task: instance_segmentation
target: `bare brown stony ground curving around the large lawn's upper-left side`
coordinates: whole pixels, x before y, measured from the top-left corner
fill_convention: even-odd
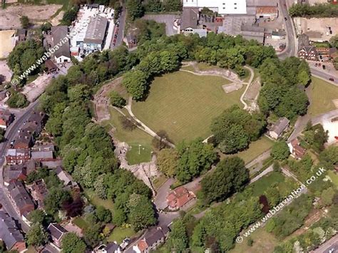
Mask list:
[[[111,81],[111,83],[103,86],[97,93],[94,95],[93,103],[96,106],[96,120],[102,122],[103,120],[109,120],[111,118],[111,113],[109,113],[109,93],[114,90],[120,93],[122,96],[126,96],[127,92],[123,88],[122,77],[116,78]]]

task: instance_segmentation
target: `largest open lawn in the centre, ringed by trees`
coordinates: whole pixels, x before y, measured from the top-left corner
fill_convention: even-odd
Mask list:
[[[133,102],[133,113],[155,132],[165,130],[174,143],[207,138],[210,123],[231,105],[240,105],[243,89],[225,93],[229,83],[217,76],[178,71],[155,78],[145,102]]]

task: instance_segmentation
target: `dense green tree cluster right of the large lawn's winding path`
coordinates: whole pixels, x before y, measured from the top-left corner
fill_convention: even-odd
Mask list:
[[[291,57],[285,61],[267,59],[260,66],[262,90],[258,99],[262,113],[294,118],[307,113],[308,98],[299,86],[309,83],[309,66]]]

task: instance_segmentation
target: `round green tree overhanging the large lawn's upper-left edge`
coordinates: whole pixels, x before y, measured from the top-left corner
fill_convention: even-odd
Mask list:
[[[123,86],[135,100],[142,100],[148,88],[147,76],[142,71],[129,71],[123,76]]]

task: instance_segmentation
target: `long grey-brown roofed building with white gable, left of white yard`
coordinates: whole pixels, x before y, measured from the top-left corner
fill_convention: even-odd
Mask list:
[[[53,53],[56,63],[71,62],[71,51],[69,48],[69,41],[67,38],[67,26],[52,26],[51,36],[53,46],[58,46],[58,49]],[[67,38],[65,40],[65,38]],[[60,46],[61,44],[61,46]]]

